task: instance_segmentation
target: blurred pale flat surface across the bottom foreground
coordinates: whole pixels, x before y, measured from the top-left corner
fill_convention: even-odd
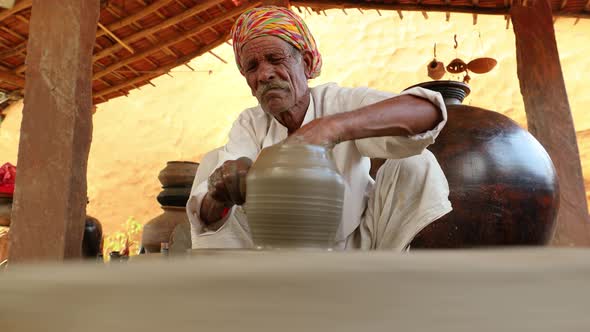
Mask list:
[[[590,326],[589,261],[582,249],[210,250],[106,266],[11,263],[0,330],[580,332]]]

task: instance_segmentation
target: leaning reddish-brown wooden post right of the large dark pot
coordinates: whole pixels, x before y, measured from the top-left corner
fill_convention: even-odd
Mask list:
[[[553,244],[590,244],[588,207],[576,131],[567,99],[551,5],[548,0],[514,3],[517,72],[529,131],[543,144],[557,170],[561,192]]]

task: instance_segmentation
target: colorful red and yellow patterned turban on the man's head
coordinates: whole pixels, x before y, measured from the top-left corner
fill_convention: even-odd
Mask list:
[[[262,36],[279,37],[301,52],[311,52],[311,69],[306,68],[305,75],[308,79],[320,75],[322,57],[307,25],[291,10],[275,6],[258,7],[244,12],[232,28],[234,54],[242,75],[244,74],[240,62],[242,46]]]

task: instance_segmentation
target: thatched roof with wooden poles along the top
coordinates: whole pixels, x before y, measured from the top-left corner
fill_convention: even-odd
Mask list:
[[[590,0],[551,0],[555,16],[590,17]],[[94,102],[126,95],[228,40],[259,0],[102,0],[94,47]],[[296,10],[331,8],[507,15],[512,0],[294,0]],[[0,105],[24,89],[32,0],[0,11]],[[476,15],[474,15],[474,23]]]

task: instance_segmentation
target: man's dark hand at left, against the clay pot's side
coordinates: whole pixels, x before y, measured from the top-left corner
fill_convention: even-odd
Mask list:
[[[246,175],[252,160],[246,157],[228,160],[208,180],[208,191],[201,203],[200,216],[206,224],[219,221],[225,208],[246,201]]]

